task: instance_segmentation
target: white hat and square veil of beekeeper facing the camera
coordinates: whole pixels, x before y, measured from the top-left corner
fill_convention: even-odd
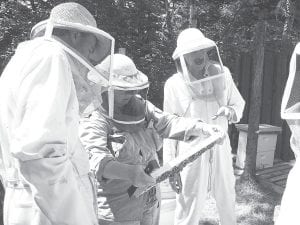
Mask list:
[[[219,50],[200,30],[188,28],[182,31],[172,57],[177,71],[195,97],[206,100],[223,97],[225,73]]]

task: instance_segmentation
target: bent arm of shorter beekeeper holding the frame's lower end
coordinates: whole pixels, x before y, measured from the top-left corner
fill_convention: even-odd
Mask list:
[[[144,172],[142,165],[129,165],[116,160],[112,150],[107,147],[109,126],[97,110],[80,122],[80,139],[90,155],[90,166],[98,181],[129,180],[136,187],[154,183],[154,179]]]

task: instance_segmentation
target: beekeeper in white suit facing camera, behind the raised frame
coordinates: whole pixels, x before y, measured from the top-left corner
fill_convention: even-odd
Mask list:
[[[166,112],[199,118],[220,125],[224,131],[228,130],[228,122],[240,120],[245,102],[229,70],[222,65],[214,41],[200,30],[188,28],[178,36],[173,59],[178,72],[165,83]],[[197,142],[165,140],[164,162],[192,148],[197,148]],[[235,178],[228,135],[222,145],[204,153],[180,175],[170,179],[178,193],[175,224],[198,224],[208,193],[216,199],[221,224],[236,224]]]

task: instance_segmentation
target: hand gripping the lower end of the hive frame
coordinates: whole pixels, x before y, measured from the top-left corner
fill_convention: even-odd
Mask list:
[[[129,169],[129,180],[135,187],[155,185],[155,179],[145,173],[142,165],[132,165]]]

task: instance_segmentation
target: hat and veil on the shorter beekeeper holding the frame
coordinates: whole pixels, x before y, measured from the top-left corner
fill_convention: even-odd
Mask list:
[[[96,66],[97,70],[108,73],[110,61],[109,56]],[[109,86],[101,90],[101,108],[115,123],[128,125],[122,128],[128,130],[132,128],[129,125],[140,125],[145,120],[148,77],[125,55],[114,54],[113,61]],[[88,74],[88,77],[93,76],[97,74]]]

